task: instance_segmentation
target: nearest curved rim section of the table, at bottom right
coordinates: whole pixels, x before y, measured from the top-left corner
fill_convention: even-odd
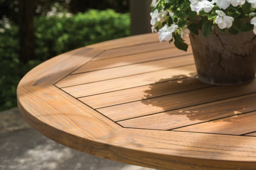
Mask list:
[[[100,139],[90,154],[162,170],[256,168],[256,138],[175,131],[120,129]]]

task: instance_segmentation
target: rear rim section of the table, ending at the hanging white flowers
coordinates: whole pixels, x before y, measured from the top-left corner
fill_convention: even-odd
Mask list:
[[[150,44],[159,42],[157,33],[148,33],[138,36],[130,36],[116,40],[105,41],[87,46],[88,48],[98,48],[103,50],[124,48],[129,46],[135,46],[140,44]]]

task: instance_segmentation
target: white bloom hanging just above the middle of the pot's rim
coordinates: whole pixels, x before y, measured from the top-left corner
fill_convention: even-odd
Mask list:
[[[216,10],[215,12],[218,14],[218,16],[216,17],[215,23],[218,24],[220,29],[232,27],[232,24],[234,21],[233,17],[226,16],[226,14],[220,10]]]

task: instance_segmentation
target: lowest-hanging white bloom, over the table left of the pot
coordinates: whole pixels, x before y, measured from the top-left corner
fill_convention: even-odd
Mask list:
[[[171,27],[168,27],[166,24],[163,28],[159,29],[158,36],[159,41],[162,42],[163,40],[171,41],[172,33],[176,31],[178,25],[172,24]]]

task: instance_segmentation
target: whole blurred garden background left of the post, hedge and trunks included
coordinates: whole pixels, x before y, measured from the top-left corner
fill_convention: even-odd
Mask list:
[[[17,106],[20,79],[41,62],[130,35],[128,0],[30,2],[0,0],[0,111]]]

